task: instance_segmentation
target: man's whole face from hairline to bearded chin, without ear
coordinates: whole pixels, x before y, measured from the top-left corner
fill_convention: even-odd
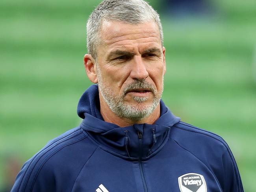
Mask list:
[[[104,21],[96,73],[100,94],[119,117],[141,120],[159,105],[165,48],[155,22]]]

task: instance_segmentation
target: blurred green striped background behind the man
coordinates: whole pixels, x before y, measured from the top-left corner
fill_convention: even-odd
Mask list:
[[[80,124],[76,106],[91,85],[85,24],[99,2],[1,0],[0,188],[13,177],[8,162],[19,167]],[[255,192],[256,1],[215,0],[213,13],[184,17],[149,2],[167,50],[163,100],[183,121],[221,135],[245,191]]]

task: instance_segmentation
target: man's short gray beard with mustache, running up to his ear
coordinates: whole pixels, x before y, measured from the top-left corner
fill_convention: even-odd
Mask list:
[[[127,118],[130,120],[142,120],[143,118],[149,116],[153,113],[156,107],[159,105],[161,95],[163,90],[158,92],[151,84],[145,80],[135,80],[124,88],[121,95],[116,95],[111,87],[107,87],[106,84],[102,82],[101,72],[97,70],[98,76],[98,88],[100,93],[107,103],[111,111],[121,118]],[[130,104],[124,103],[124,96],[126,92],[131,89],[149,89],[153,93],[153,101],[150,104],[144,105],[143,107],[132,106]],[[133,96],[133,100],[137,103],[143,103],[148,100],[148,97],[138,97]]]

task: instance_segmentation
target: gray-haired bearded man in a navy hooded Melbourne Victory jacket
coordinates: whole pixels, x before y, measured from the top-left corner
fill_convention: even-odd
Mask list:
[[[143,0],[105,0],[87,22],[93,83],[79,127],[27,161],[12,192],[242,192],[221,137],[180,121],[161,98],[159,15]]]

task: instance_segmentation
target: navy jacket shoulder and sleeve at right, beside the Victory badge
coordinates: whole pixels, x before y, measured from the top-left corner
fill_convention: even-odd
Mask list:
[[[234,156],[219,135],[178,122],[171,127],[170,139],[204,163],[225,191],[243,191]]]

